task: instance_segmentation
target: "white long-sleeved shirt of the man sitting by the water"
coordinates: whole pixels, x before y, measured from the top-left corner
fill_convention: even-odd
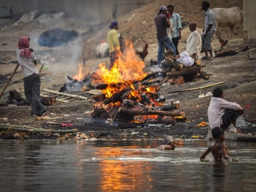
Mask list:
[[[233,102],[228,102],[220,97],[212,97],[208,108],[208,121],[211,129],[222,125],[222,116],[225,113],[225,108],[242,110],[242,107]]]

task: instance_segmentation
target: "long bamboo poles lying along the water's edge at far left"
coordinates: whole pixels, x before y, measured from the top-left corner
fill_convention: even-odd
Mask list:
[[[43,128],[35,128],[35,127],[28,127],[28,126],[17,126],[17,125],[10,125],[10,124],[2,124],[0,123],[0,129],[8,130],[14,129],[16,131],[21,132],[35,132],[35,133],[76,133],[77,129],[69,129],[69,130],[50,130],[50,129],[43,129]]]

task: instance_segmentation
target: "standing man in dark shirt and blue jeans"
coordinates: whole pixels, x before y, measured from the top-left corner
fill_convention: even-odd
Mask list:
[[[159,9],[159,13],[154,18],[156,24],[156,36],[158,40],[158,55],[157,55],[157,64],[160,64],[163,61],[164,56],[164,47],[167,46],[169,49],[172,49],[174,55],[176,55],[175,46],[173,45],[172,40],[170,40],[167,34],[167,28],[170,27],[170,22],[167,19],[167,7],[162,6]]]

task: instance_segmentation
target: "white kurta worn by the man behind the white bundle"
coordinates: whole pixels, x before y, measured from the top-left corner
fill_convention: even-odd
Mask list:
[[[202,38],[197,30],[194,30],[187,38],[186,52],[191,56],[197,53],[197,57],[200,58],[200,51],[202,48]]]

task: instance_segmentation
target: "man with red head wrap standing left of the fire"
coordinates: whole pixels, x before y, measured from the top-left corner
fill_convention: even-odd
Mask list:
[[[28,36],[22,36],[18,41],[16,51],[17,60],[24,76],[25,96],[31,103],[31,116],[41,116],[46,108],[40,103],[40,74],[36,69],[36,57],[32,48],[29,48]]]

